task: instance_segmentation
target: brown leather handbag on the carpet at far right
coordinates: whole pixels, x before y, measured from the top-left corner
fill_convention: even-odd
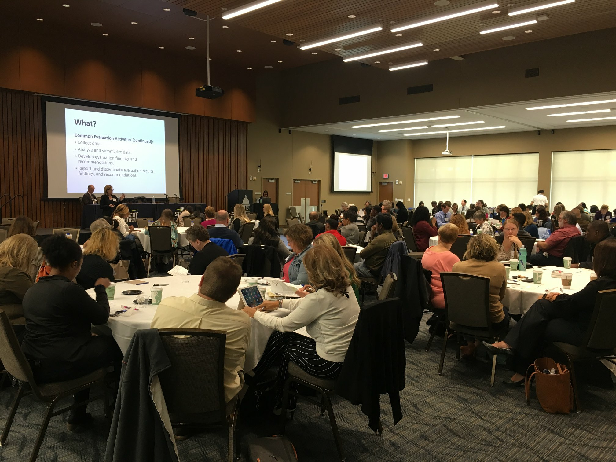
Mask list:
[[[555,369],[555,374],[544,370]],[[526,403],[530,405],[530,383],[535,378],[537,399],[544,411],[569,414],[573,408],[573,387],[569,370],[551,358],[539,358],[526,371]]]

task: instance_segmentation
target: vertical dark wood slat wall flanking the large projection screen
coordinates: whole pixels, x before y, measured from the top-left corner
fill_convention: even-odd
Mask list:
[[[0,195],[22,194],[2,209],[2,216],[22,212],[41,227],[77,226],[78,200],[45,200],[45,132],[41,98],[0,89]],[[179,120],[181,194],[186,201],[205,201],[226,208],[227,193],[246,187],[248,123],[183,115]],[[0,204],[7,200],[0,200]]]

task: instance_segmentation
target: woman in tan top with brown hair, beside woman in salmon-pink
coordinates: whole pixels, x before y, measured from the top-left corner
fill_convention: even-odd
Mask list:
[[[509,312],[501,303],[507,289],[507,273],[505,265],[496,260],[496,254],[498,254],[498,244],[493,237],[484,233],[473,236],[468,241],[465,260],[453,265],[453,272],[490,278],[490,321],[493,330],[499,331],[509,325]],[[464,356],[472,356],[479,346],[479,341],[467,340],[468,346],[461,347],[460,351]]]

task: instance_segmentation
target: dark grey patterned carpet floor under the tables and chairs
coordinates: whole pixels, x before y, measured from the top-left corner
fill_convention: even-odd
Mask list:
[[[500,384],[511,375],[503,366],[490,387],[490,365],[456,362],[453,344],[443,375],[437,375],[442,338],[436,337],[426,352],[428,336],[422,323],[415,342],[406,346],[406,388],[400,393],[404,416],[396,426],[387,397],[381,397],[383,436],[370,431],[359,406],[339,398],[334,401],[347,461],[616,460],[616,393],[600,365],[580,371],[586,376],[583,412],[553,415],[541,410],[534,397],[527,406],[522,387]],[[11,387],[0,392],[2,427],[14,393]],[[91,404],[89,411],[96,421],[87,430],[67,432],[66,416],[52,418],[38,461],[102,462],[106,444],[102,405]],[[0,461],[28,460],[43,412],[43,406],[30,397],[22,400],[6,445],[0,447]],[[267,424],[252,422],[249,430],[267,432]],[[299,401],[286,434],[300,461],[338,460],[328,418],[319,416],[310,403]],[[182,461],[222,461],[227,456],[224,432],[195,435],[177,447]]]

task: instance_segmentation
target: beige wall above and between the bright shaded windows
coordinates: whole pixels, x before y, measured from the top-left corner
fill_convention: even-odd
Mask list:
[[[403,190],[405,198],[413,198],[413,171],[415,159],[425,157],[439,157],[445,146],[444,139],[426,140],[395,140],[379,141],[379,174],[381,166],[394,171],[394,167],[405,168]],[[539,153],[539,171],[537,188],[543,189],[549,198],[551,182],[552,153],[559,151],[577,151],[594,149],[616,149],[616,127],[587,127],[542,131],[501,133],[476,136],[453,137],[449,140],[449,147],[454,156],[511,154],[511,153]],[[403,164],[406,162],[406,165]],[[575,166],[572,166],[574,169]],[[382,177],[382,176],[380,176]],[[400,175],[400,177],[402,177]],[[396,177],[396,179],[399,179]],[[402,192],[402,188],[396,191]],[[558,198],[554,198],[556,201]],[[555,203],[555,202],[554,202]],[[415,204],[415,199],[410,203]],[[410,205],[409,204],[409,205]]]

